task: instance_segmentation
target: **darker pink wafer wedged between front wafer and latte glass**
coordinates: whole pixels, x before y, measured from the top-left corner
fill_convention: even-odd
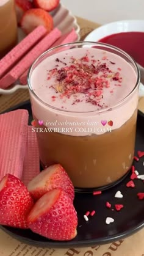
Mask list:
[[[24,170],[22,181],[27,186],[29,181],[40,173],[40,158],[38,152],[37,136],[32,126],[27,126],[26,155],[24,156]]]

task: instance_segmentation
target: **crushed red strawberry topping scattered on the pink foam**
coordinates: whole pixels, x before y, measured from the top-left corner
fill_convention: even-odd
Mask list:
[[[101,108],[106,108],[104,103],[101,104],[103,98],[103,90],[109,90],[112,93],[113,90],[109,89],[110,82],[115,81],[117,86],[121,86],[122,78],[120,72],[113,72],[110,70],[109,65],[103,61],[90,59],[87,54],[81,59],[75,59],[71,57],[71,64],[68,66],[60,59],[56,59],[56,62],[61,62],[65,67],[58,68],[57,65],[52,70],[48,71],[48,78],[54,77],[55,84],[52,88],[58,93],[58,98],[70,98],[74,97],[72,104],[79,103],[78,93],[82,93],[84,98],[82,101],[91,103]],[[112,63],[112,62],[110,62]]]

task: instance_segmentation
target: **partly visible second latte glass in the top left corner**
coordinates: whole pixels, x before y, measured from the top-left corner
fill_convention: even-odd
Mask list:
[[[0,58],[16,45],[18,32],[14,0],[0,1]]]

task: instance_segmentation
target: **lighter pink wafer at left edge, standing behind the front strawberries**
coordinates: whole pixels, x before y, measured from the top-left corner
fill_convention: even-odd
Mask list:
[[[28,112],[18,109],[0,115],[0,180],[6,174],[20,178],[26,153]]]

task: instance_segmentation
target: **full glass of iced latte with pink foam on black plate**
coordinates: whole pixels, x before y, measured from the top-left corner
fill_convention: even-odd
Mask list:
[[[62,164],[86,191],[128,172],[139,89],[128,54],[101,43],[59,46],[34,62],[28,82],[43,166]]]

